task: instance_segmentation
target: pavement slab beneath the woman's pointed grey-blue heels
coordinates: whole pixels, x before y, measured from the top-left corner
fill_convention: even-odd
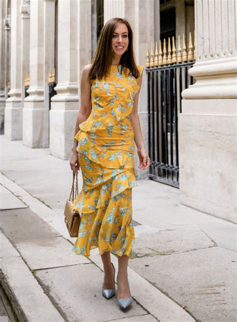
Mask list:
[[[103,297],[103,272],[93,263],[40,269],[35,276],[68,321],[110,321],[147,314],[135,300],[122,310],[116,295],[109,300]]]

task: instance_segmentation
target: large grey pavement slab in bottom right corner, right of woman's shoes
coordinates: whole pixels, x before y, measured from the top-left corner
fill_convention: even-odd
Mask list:
[[[236,321],[236,253],[218,246],[135,258],[129,267],[201,322]],[[207,269],[208,267],[208,269]]]

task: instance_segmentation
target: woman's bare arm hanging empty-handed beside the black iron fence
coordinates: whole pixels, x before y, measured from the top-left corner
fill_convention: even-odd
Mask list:
[[[137,80],[137,84],[141,87],[142,83],[142,74]],[[140,120],[137,113],[137,105],[138,105],[138,97],[139,97],[140,89],[136,92],[133,107],[130,113],[131,125],[134,132],[134,141],[137,147],[137,153],[139,157],[139,164],[138,167],[142,170],[146,169],[149,166],[149,156],[146,152],[145,144],[143,141],[141,127],[140,127]]]

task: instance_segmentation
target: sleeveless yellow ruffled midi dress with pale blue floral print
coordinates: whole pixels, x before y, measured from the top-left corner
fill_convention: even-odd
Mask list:
[[[143,66],[137,68],[141,74]],[[72,247],[76,254],[88,257],[90,249],[98,247],[100,255],[110,251],[135,257],[131,221],[135,146],[129,114],[139,88],[137,78],[121,65],[110,65],[106,76],[91,80],[91,112],[74,136],[83,179],[72,204],[81,214]]]

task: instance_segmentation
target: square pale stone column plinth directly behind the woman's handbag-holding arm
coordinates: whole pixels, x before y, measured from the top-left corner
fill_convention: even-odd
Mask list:
[[[53,156],[63,160],[69,159],[77,113],[78,101],[51,101],[51,109],[49,111],[49,153]]]

